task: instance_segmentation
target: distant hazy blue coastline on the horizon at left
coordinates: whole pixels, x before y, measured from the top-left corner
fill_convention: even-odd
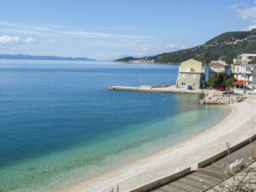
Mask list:
[[[59,61],[96,61],[92,58],[70,58],[70,57],[58,57],[58,56],[35,56],[35,55],[11,55],[0,54],[0,59],[26,59],[26,60],[59,60]]]

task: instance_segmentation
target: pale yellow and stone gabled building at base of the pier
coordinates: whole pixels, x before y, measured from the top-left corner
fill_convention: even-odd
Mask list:
[[[179,76],[176,82],[177,87],[188,87],[199,89],[202,87],[203,63],[195,59],[188,59],[181,62]]]

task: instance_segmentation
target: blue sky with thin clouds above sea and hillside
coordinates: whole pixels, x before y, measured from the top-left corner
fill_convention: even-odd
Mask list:
[[[0,0],[0,54],[111,60],[256,28],[254,0]]]

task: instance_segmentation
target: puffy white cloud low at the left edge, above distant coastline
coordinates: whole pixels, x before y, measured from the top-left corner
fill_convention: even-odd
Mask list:
[[[31,37],[27,39],[20,39],[19,36],[0,36],[0,45],[16,46],[22,44],[33,44],[37,41]]]

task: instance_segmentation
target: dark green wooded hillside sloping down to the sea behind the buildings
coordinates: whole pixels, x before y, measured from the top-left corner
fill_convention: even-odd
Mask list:
[[[256,53],[256,30],[226,32],[203,45],[177,52],[164,52],[147,58],[120,58],[115,61],[129,62],[144,59],[154,60],[155,63],[181,63],[188,58],[195,58],[203,63],[218,59],[232,63],[233,58],[237,58],[237,55],[242,53]]]

